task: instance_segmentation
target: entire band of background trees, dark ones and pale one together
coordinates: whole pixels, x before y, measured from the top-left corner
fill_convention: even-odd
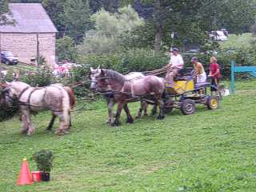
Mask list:
[[[248,32],[256,16],[255,0],[10,2],[42,2],[59,31],[58,58],[72,61],[77,60],[77,56],[82,58],[87,54],[120,55],[122,51],[136,53],[136,50],[141,53],[154,50],[155,54],[169,50],[170,45],[204,46],[207,31],[226,28],[235,34]],[[7,1],[2,0],[0,3],[2,15],[6,12]],[[171,34],[174,34],[173,38]]]

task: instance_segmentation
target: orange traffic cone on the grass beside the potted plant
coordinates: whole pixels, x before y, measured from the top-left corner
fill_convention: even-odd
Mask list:
[[[23,186],[23,185],[30,185],[30,184],[32,184],[30,168],[28,163],[26,162],[26,158],[23,158],[22,168],[18,175],[17,185]]]

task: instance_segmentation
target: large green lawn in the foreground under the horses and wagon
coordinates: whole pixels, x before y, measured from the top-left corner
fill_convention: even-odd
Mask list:
[[[143,117],[105,124],[104,102],[74,112],[71,133],[47,132],[50,113],[33,118],[36,132],[20,134],[15,118],[0,124],[0,191],[250,191],[256,189],[255,81],[238,82],[218,110],[174,110],[162,121]],[[132,114],[138,109],[131,104]],[[56,125],[58,126],[58,125]],[[22,158],[54,153],[52,181],[16,186]]]

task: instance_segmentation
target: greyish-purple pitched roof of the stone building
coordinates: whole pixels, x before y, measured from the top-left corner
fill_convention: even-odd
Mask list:
[[[8,33],[56,33],[58,30],[40,3],[10,3],[15,26],[0,26]]]

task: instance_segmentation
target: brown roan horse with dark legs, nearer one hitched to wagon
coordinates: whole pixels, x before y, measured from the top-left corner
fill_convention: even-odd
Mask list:
[[[98,70],[96,78],[92,79],[90,87],[99,92],[112,91],[114,99],[118,102],[118,110],[112,126],[119,126],[119,117],[122,108],[126,111],[127,122],[132,123],[134,119],[130,115],[128,102],[138,102],[143,99],[150,100],[159,106],[158,119],[165,118],[164,102],[162,95],[165,91],[165,81],[156,76],[146,76],[130,81],[126,76],[114,70]]]

